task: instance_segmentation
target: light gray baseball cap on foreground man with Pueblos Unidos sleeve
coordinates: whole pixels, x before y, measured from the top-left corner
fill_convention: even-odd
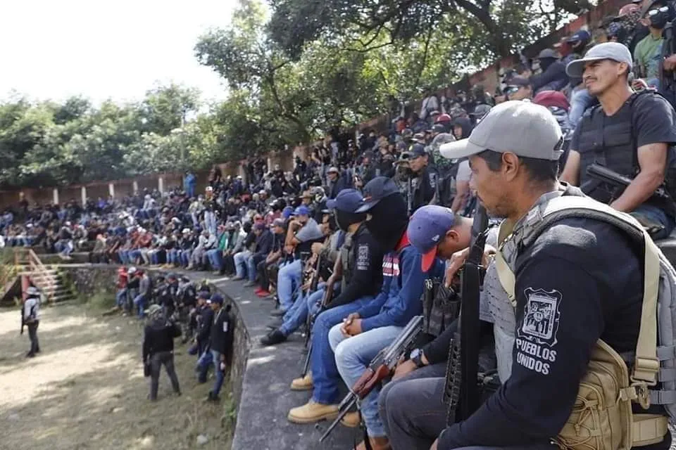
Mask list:
[[[468,139],[445,143],[439,153],[451,160],[484,150],[556,161],[561,156],[561,127],[547,108],[527,101],[506,101],[492,108]]]

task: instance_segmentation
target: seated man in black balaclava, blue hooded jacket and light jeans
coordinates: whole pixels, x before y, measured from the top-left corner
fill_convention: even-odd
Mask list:
[[[365,186],[364,195],[365,205],[358,211],[368,211],[365,226],[380,243],[380,247],[388,253],[382,264],[383,284],[380,294],[372,302],[343,316],[342,323],[337,321],[332,324],[328,333],[330,354],[336,352],[335,363],[349,386],[353,386],[361,378],[368,362],[392,343],[414,316],[422,312],[420,296],[425,283],[423,271],[420,269],[420,252],[409,245],[406,236],[406,202],[394,181],[382,176],[376,177]],[[441,267],[438,269],[442,270]],[[333,311],[320,314],[318,321]],[[350,336],[354,338],[346,339]],[[344,350],[339,348],[342,341],[345,344]],[[361,349],[358,348],[360,342],[364,345],[363,350],[368,353],[361,354]],[[313,377],[315,375],[313,366]],[[377,392],[370,394],[364,401],[368,402],[365,409],[368,443],[374,449],[387,448],[387,437],[384,436],[382,424],[377,418]],[[341,412],[344,415],[347,410]],[[358,449],[365,448],[365,445],[360,444]]]

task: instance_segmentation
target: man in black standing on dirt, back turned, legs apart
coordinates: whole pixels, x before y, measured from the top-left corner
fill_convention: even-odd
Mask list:
[[[163,308],[152,304],[145,311],[148,321],[143,333],[143,364],[150,366],[149,399],[157,400],[160,384],[160,368],[164,368],[171,380],[171,386],[177,395],[181,394],[178,376],[174,368],[174,338],[181,335],[179,326],[167,319]]]

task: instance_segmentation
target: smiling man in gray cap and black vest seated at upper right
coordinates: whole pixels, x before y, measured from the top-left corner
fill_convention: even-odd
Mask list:
[[[592,47],[566,70],[570,77],[582,77],[600,105],[588,110],[575,129],[561,180],[580,186],[615,210],[631,213],[645,225],[657,224],[660,231],[652,234],[653,239],[666,238],[676,226],[676,205],[653,193],[665,181],[671,185],[676,181],[669,179],[676,161],[674,109],[649,89],[632,91],[627,81],[632,56],[617,42]],[[632,183],[622,191],[606,186],[587,174],[593,164],[627,176]]]

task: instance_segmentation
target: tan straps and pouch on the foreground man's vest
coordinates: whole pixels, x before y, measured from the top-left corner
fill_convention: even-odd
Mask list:
[[[561,449],[566,450],[620,450],[661,442],[668,432],[667,418],[655,414],[634,414],[632,401],[647,409],[651,401],[655,400],[653,403],[664,404],[671,417],[674,417],[672,411],[676,396],[670,395],[676,392],[651,391],[650,388],[662,381],[661,378],[676,378],[672,376],[676,375],[672,368],[674,354],[670,356],[670,361],[658,360],[659,349],[663,349],[664,353],[668,352],[667,349],[676,349],[672,346],[676,272],[643,227],[629,214],[577,195],[562,195],[550,200],[542,214],[542,221],[534,225],[535,230],[527,236],[527,242],[522,242],[522,248],[533,243],[553,222],[568,217],[604,221],[617,226],[634,242],[640,243],[644,249],[644,297],[636,359],[631,373],[618,352],[603,340],[598,340],[592,349],[587,373],[580,381],[580,390],[570,417],[556,437],[556,442]],[[502,255],[503,243],[512,238],[512,228],[513,225],[508,221],[503,221],[500,226],[500,251],[496,254],[496,269],[503,288],[515,304],[515,276]],[[659,324],[658,304],[661,315]],[[660,347],[657,346],[658,332]],[[663,345],[664,342],[669,342],[670,347]],[[665,365],[665,362],[668,364]]]

